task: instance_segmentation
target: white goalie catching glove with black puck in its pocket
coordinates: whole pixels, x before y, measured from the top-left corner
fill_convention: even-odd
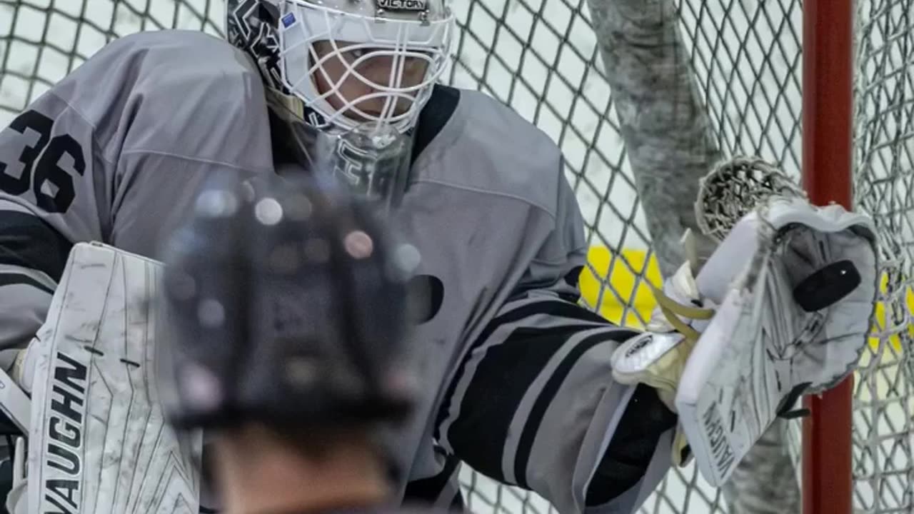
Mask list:
[[[686,263],[655,292],[647,331],[612,356],[616,380],[654,387],[678,412],[674,463],[685,460],[687,441],[716,486],[776,417],[792,415],[802,394],[831,388],[855,369],[877,294],[869,217],[813,207],[759,161],[721,166],[703,193],[720,184],[728,190],[718,205],[733,196],[747,205],[748,186],[764,187],[748,214],[733,202],[716,216],[698,213],[707,233],[728,235],[696,277]],[[739,221],[727,224],[721,211]]]

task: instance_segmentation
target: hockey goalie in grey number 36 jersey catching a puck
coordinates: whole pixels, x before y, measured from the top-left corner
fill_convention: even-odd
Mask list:
[[[586,239],[556,145],[436,84],[442,0],[227,6],[228,42],[123,37],[0,133],[0,358],[31,396],[30,411],[0,398],[28,436],[16,512],[197,508],[199,441],[165,429],[155,315],[136,302],[174,220],[232,209],[199,193],[215,178],[332,181],[410,242],[400,258],[427,301],[409,348],[433,385],[396,434],[398,499],[459,507],[465,462],[563,513],[632,512],[671,454],[719,483],[799,395],[856,363],[876,295],[866,216],[791,187],[747,198],[746,167],[722,166],[701,204],[717,253],[666,281],[646,332],[615,327],[578,303]],[[90,241],[120,252],[82,262]]]

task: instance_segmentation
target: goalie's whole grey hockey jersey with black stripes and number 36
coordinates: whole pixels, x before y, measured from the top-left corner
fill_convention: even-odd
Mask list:
[[[665,473],[675,417],[611,380],[631,332],[577,304],[583,222],[558,148],[443,86],[415,145],[392,218],[432,293],[412,338],[429,394],[397,438],[400,492],[459,501],[465,461],[564,513],[633,511]],[[103,48],[0,133],[0,346],[35,334],[73,243],[155,258],[207,177],[285,173],[274,157],[260,77],[235,48],[183,31]]]

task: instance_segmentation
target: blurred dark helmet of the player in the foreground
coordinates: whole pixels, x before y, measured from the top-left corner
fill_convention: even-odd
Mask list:
[[[298,427],[406,415],[416,388],[401,351],[404,249],[360,201],[315,182],[205,188],[165,245],[158,376],[170,421]]]

